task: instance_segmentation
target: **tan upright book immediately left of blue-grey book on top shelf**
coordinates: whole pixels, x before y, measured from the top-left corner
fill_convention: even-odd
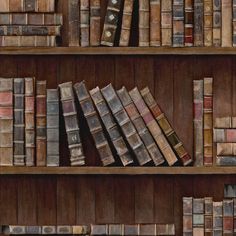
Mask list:
[[[161,1],[161,44],[172,46],[172,0]]]

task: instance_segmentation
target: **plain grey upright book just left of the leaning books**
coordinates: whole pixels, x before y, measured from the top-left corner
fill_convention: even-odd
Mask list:
[[[59,95],[47,89],[47,166],[59,164]]]

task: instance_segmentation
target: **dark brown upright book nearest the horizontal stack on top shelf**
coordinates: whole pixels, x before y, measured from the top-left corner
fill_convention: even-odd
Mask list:
[[[68,0],[69,46],[80,46],[80,1]]]

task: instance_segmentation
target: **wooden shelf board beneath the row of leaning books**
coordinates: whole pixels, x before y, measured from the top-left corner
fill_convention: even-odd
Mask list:
[[[0,167],[0,175],[209,175],[236,167]]]

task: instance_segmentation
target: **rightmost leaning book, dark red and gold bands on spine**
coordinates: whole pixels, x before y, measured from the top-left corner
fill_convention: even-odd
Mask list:
[[[154,118],[157,120],[171,147],[176,152],[177,156],[181,160],[184,166],[192,163],[192,158],[185,150],[183,143],[180,141],[176,132],[173,130],[167,117],[161,110],[160,106],[155,101],[150,89],[148,87],[141,90],[141,95],[152,112]]]

